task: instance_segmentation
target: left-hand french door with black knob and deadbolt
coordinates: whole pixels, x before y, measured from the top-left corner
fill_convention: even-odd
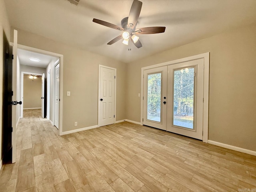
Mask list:
[[[143,124],[166,130],[167,66],[144,70]]]

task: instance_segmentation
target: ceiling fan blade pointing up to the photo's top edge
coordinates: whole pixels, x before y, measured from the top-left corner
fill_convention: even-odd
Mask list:
[[[128,17],[128,27],[129,24],[133,24],[131,28],[133,29],[136,26],[138,18],[140,16],[140,10],[142,7],[142,2],[138,0],[134,0],[130,9],[129,17]]]

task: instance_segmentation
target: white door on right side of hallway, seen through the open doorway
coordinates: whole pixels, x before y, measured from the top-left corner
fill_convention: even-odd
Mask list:
[[[54,67],[55,76],[54,76],[54,125],[56,128],[59,128],[59,103],[60,103],[60,64],[57,64]]]

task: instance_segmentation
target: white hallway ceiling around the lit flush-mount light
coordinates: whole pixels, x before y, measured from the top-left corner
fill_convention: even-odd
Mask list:
[[[18,55],[20,64],[34,66],[34,67],[41,67],[41,68],[46,68],[51,61],[55,62],[58,60],[58,57],[39,54],[39,53],[22,50],[22,49],[17,50],[17,55]],[[29,60],[29,58],[39,59],[40,62],[31,61]]]

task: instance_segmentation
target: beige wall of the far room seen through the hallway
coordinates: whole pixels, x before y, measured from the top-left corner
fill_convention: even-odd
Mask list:
[[[25,75],[23,79],[23,108],[41,108],[42,80],[30,79]]]

